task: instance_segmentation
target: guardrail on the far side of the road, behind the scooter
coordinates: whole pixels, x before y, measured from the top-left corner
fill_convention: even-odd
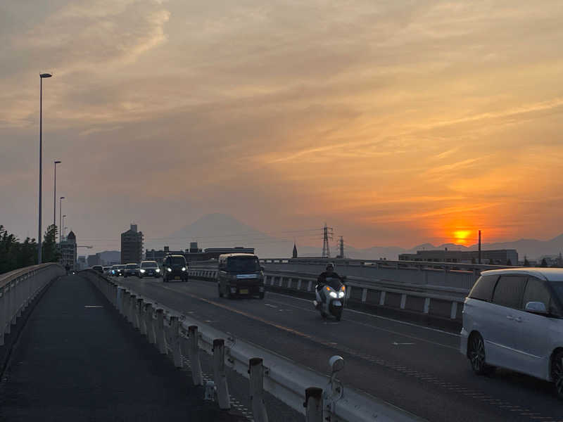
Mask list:
[[[215,281],[217,269],[191,268],[191,277]],[[317,276],[292,271],[264,271],[264,283],[270,290],[287,293],[315,293]],[[463,302],[468,288],[427,286],[416,283],[397,283],[388,280],[369,280],[350,276],[346,280],[348,305],[372,305],[422,315],[461,321]]]

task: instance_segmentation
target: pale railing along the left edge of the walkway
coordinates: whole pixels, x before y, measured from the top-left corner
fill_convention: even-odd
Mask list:
[[[4,336],[41,290],[56,276],[65,274],[59,264],[40,264],[0,274],[0,346]]]

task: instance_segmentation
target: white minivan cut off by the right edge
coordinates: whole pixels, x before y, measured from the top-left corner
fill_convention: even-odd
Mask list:
[[[563,269],[483,271],[462,315],[460,351],[475,373],[526,373],[563,399]]]

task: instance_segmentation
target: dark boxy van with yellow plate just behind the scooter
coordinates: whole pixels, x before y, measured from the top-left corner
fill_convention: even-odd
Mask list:
[[[264,274],[260,260],[251,253],[219,255],[217,291],[219,297],[258,296],[264,298]]]

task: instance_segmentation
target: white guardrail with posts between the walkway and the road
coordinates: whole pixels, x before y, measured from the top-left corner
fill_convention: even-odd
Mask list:
[[[412,422],[422,421],[397,407],[352,388],[343,388],[336,378],[343,359],[331,359],[330,378],[280,357],[241,338],[203,324],[191,316],[139,295],[95,271],[83,274],[101,290],[110,303],[134,328],[146,335],[160,353],[171,354],[175,366],[189,364],[194,385],[205,385],[205,398],[215,400],[221,409],[230,408],[225,369],[228,367],[249,379],[253,419],[266,422],[263,391],[280,399],[306,416],[308,422]],[[213,356],[213,381],[204,383],[200,352]],[[314,386],[314,387],[311,387]],[[323,388],[320,388],[323,387]]]

